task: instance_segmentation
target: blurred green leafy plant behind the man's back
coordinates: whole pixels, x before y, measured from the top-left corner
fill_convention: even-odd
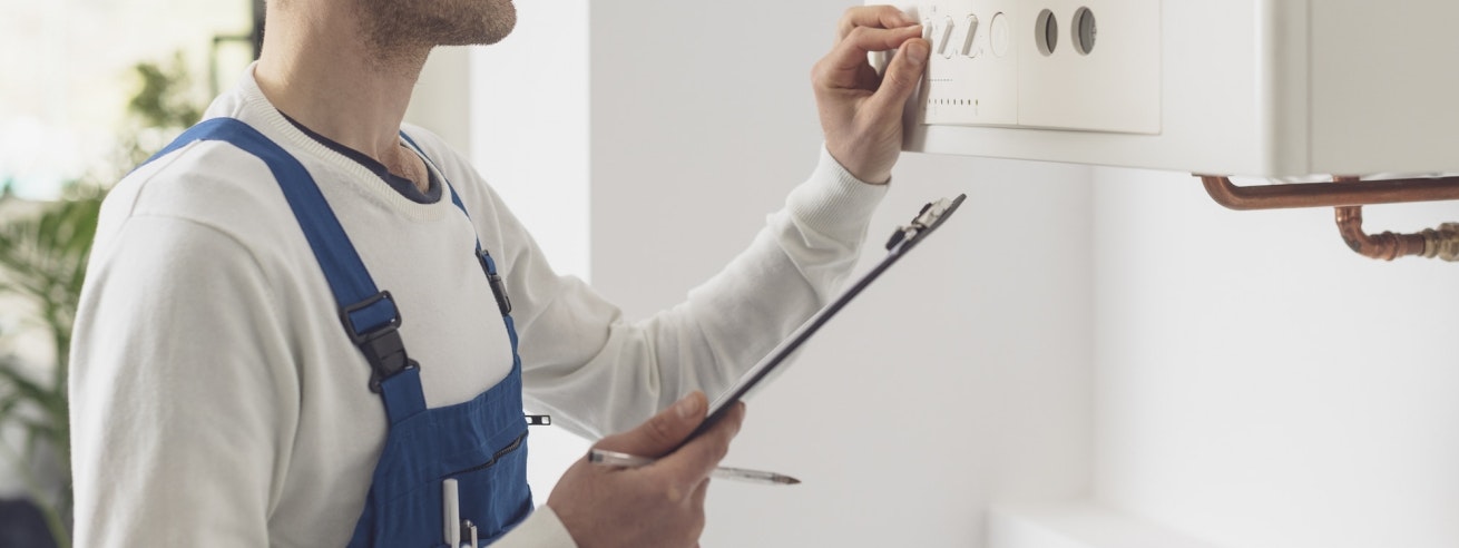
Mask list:
[[[142,87],[128,103],[134,128],[118,141],[117,162],[144,160],[166,140],[197,122],[201,109],[191,96],[181,55],[169,66],[139,63]],[[114,181],[112,175],[96,179]],[[15,356],[0,356],[0,431],[19,428],[19,447],[0,445],[23,475],[31,500],[41,507],[58,547],[70,547],[71,474],[70,412],[66,399],[71,325],[80,302],[86,261],[96,233],[104,185],[76,182],[64,200],[34,214],[0,219],[0,296],[16,296],[35,310],[32,326],[48,332],[55,363],[36,377]],[[0,189],[0,206],[16,200]]]

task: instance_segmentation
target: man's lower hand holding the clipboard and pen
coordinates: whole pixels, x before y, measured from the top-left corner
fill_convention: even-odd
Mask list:
[[[744,421],[744,404],[735,404],[713,428],[668,453],[703,423],[708,407],[703,392],[694,392],[639,427],[594,445],[657,456],[648,466],[603,466],[582,458],[562,475],[547,506],[579,548],[697,545],[705,529],[709,472]]]

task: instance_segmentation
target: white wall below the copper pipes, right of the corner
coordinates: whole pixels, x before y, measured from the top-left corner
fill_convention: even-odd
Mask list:
[[[1094,197],[1100,500],[1217,547],[1459,545],[1453,264],[1366,259],[1332,210],[1227,211],[1177,173],[1097,169]]]

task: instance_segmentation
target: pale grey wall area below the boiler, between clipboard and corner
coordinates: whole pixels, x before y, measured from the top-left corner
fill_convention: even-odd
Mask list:
[[[967,206],[750,404],[728,461],[805,484],[719,482],[705,544],[982,547],[989,504],[1083,496],[1084,171],[906,157],[862,270],[926,198],[967,192]]]

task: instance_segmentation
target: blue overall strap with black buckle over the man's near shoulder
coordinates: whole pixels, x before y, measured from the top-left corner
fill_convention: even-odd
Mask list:
[[[423,411],[426,401],[420,391],[419,364],[406,356],[395,300],[390,291],[375,287],[375,280],[309,171],[277,143],[235,118],[206,120],[147,162],[194,141],[225,141],[268,166],[334,293],[346,334],[369,361],[371,391],[384,392],[391,424]],[[409,375],[398,375],[403,372]]]

